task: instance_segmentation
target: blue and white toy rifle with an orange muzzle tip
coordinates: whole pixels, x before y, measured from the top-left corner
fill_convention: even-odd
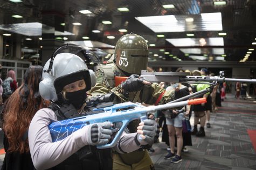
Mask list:
[[[57,142],[63,140],[74,131],[81,129],[88,124],[106,121],[111,123],[122,122],[122,127],[117,132],[111,143],[97,146],[98,149],[105,149],[116,145],[129,122],[140,119],[141,116],[147,116],[148,112],[155,112],[156,110],[176,108],[186,105],[197,105],[205,102],[205,98],[199,98],[149,107],[142,106],[141,104],[134,104],[133,102],[125,102],[110,107],[94,109],[102,110],[102,113],[53,122],[49,125],[49,129],[52,136],[52,142]]]

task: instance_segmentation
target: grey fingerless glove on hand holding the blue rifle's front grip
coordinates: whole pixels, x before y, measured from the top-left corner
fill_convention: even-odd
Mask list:
[[[140,137],[140,135],[137,135],[138,141],[140,143],[146,142],[149,145],[153,145],[155,141],[155,136],[157,134],[157,125],[155,120],[147,119],[144,120],[144,125],[143,125],[143,135],[145,136],[144,139]],[[159,135],[159,134],[158,134]]]

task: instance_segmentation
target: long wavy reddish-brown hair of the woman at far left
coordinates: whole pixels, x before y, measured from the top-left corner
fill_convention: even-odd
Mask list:
[[[25,72],[22,85],[6,101],[3,130],[9,142],[9,152],[24,153],[29,151],[29,143],[23,135],[36,112],[47,107],[39,94],[39,83],[43,67],[31,65]]]

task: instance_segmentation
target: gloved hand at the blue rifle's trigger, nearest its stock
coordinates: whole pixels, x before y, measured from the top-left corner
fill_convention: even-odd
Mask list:
[[[109,142],[112,135],[112,130],[110,129],[112,124],[110,122],[95,123],[88,127],[88,144],[89,145],[103,145]]]

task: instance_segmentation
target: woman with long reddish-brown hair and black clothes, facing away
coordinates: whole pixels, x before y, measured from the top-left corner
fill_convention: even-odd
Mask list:
[[[2,113],[5,157],[2,170],[35,169],[32,163],[27,131],[36,112],[47,107],[39,94],[43,67],[31,65],[25,72],[22,85],[11,94]]]

